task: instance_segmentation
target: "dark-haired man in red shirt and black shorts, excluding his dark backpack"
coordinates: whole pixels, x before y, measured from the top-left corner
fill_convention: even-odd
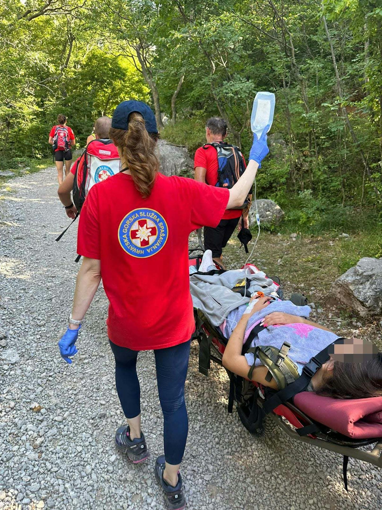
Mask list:
[[[220,117],[212,117],[206,123],[206,140],[207,143],[218,142],[223,143],[227,136],[227,123]],[[247,166],[245,160],[240,152],[243,160],[244,168]],[[195,179],[201,183],[206,183],[210,186],[215,186],[217,183],[217,169],[219,163],[217,161],[217,151],[212,146],[199,147],[195,152],[194,169]],[[243,216],[244,227],[248,228],[248,212],[249,208],[245,210],[231,209],[226,210],[223,217],[216,228],[204,227],[204,247],[206,250],[212,251],[212,258],[215,262],[219,263],[223,268],[223,248],[227,245],[230,237],[232,236],[236,225]],[[240,230],[241,222],[239,224]]]

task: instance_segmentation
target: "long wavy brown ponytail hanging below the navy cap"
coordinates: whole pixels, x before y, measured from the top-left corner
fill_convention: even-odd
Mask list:
[[[109,136],[120,149],[122,166],[131,174],[135,187],[143,198],[150,196],[159,161],[155,154],[156,137],[146,131],[141,114],[129,115],[127,131],[111,127]]]

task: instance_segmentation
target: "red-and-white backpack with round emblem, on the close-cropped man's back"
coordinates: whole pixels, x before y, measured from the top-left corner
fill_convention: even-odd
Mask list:
[[[88,143],[74,174],[73,202],[78,213],[92,186],[119,171],[119,154],[112,140],[92,140]]]

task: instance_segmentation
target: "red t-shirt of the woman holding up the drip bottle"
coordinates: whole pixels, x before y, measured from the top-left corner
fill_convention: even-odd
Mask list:
[[[190,339],[188,236],[202,225],[215,227],[228,199],[227,189],[160,173],[148,198],[126,173],[90,189],[77,253],[101,261],[112,342],[147,350]]]

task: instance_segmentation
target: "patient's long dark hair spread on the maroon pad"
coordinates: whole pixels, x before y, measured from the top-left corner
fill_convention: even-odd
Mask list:
[[[317,394],[334,398],[382,396],[382,353],[363,363],[333,361],[333,371],[325,371]]]

